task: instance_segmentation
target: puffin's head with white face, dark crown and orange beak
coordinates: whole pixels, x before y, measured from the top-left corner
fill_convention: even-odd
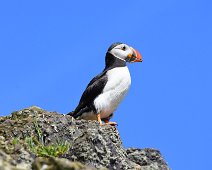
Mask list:
[[[142,56],[134,48],[124,43],[113,43],[109,48],[108,52],[113,56],[124,60],[126,62],[142,62]]]

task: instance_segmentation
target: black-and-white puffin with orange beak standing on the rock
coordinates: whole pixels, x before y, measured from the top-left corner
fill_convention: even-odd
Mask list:
[[[101,126],[117,125],[110,119],[131,85],[127,62],[142,62],[142,56],[125,43],[113,43],[106,52],[105,68],[89,82],[78,106],[68,115],[75,119],[97,120]]]

